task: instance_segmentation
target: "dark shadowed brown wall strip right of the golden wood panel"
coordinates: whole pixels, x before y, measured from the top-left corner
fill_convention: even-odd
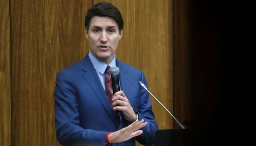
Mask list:
[[[174,0],[173,54],[175,117],[185,127],[191,125],[191,1]],[[180,126],[174,123],[174,128]]]

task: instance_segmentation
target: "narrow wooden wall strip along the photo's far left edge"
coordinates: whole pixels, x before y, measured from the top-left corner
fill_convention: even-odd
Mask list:
[[[0,145],[11,145],[11,78],[9,0],[0,1]]]

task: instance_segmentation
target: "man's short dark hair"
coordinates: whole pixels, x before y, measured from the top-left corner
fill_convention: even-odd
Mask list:
[[[114,5],[107,2],[100,2],[89,8],[85,17],[85,28],[88,31],[91,19],[94,16],[109,17],[115,20],[118,25],[119,32],[124,28],[124,21],[120,11]]]

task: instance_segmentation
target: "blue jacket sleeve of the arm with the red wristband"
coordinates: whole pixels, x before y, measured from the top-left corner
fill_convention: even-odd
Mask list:
[[[79,126],[80,118],[76,89],[68,75],[60,71],[56,76],[54,91],[55,127],[57,140],[62,145],[75,142],[90,143],[90,145],[104,145],[106,131],[84,129]]]

